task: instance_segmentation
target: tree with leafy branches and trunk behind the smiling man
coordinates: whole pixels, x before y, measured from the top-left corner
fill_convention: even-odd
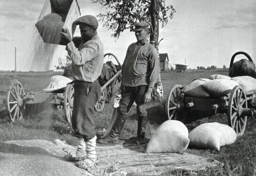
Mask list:
[[[97,15],[103,22],[103,27],[112,30],[111,37],[116,40],[124,30],[133,31],[136,22],[145,21],[151,25],[149,42],[158,51],[159,23],[164,27],[168,19],[173,18],[176,12],[172,5],[166,5],[165,0],[91,0],[107,9],[106,13]],[[158,57],[159,59],[159,57]],[[160,69],[160,68],[159,68]],[[161,76],[155,85],[153,95],[157,88],[162,88]],[[163,92],[163,89],[162,89]],[[163,96],[163,95],[158,95]],[[154,96],[153,96],[154,97]],[[155,97],[156,98],[156,97]]]

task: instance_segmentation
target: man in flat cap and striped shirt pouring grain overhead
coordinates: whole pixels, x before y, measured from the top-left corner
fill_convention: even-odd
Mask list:
[[[103,66],[103,43],[97,34],[98,20],[92,15],[82,16],[73,23],[79,25],[81,37],[72,37],[63,29],[62,42],[72,61],[74,78],[74,101],[72,126],[78,138],[77,151],[64,159],[77,161],[76,165],[86,169],[99,163],[96,157],[96,132],[94,124],[94,104],[100,97],[100,76]]]

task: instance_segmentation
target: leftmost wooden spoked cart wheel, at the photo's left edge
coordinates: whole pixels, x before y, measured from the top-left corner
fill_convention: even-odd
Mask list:
[[[6,96],[6,110],[12,122],[21,120],[25,112],[25,104],[23,103],[25,96],[24,89],[18,80],[12,80]]]

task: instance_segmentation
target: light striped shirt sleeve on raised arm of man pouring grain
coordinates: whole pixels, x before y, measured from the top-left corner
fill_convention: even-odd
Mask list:
[[[66,46],[66,50],[75,65],[84,65],[86,62],[97,56],[99,46],[96,43],[91,42],[85,44],[84,47],[78,51],[74,42],[69,42]]]

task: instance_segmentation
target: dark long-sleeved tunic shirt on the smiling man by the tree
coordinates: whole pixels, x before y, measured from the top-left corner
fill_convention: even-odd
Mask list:
[[[126,52],[122,68],[122,86],[148,85],[153,88],[158,79],[157,50],[149,42],[132,43]]]

